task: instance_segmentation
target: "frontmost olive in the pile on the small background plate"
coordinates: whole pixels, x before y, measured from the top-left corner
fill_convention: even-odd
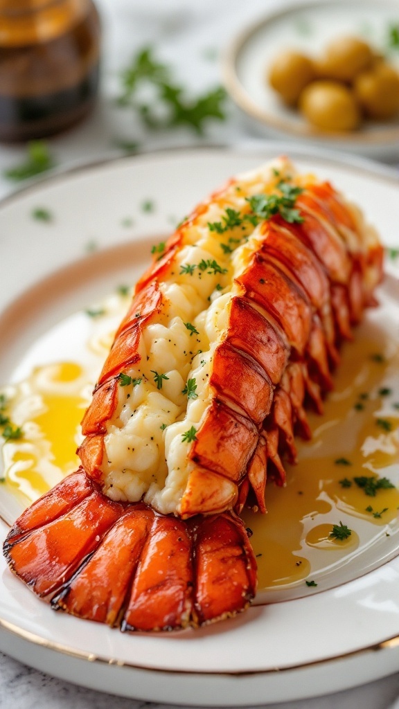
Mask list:
[[[300,110],[323,130],[354,130],[361,113],[351,91],[338,82],[313,82],[302,91]]]

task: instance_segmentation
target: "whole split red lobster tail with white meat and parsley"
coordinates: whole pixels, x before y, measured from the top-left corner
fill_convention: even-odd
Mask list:
[[[383,250],[360,211],[285,158],[232,179],[153,248],[82,420],[82,467],[16,521],[9,566],[38,596],[122,630],[244,610],[305,406],[322,413]]]

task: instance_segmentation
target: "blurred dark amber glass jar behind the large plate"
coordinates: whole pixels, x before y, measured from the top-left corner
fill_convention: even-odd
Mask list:
[[[89,113],[99,83],[92,0],[0,0],[0,140],[32,140]]]

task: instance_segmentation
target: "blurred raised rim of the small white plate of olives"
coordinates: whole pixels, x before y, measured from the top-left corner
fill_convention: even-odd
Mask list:
[[[355,4],[361,4],[359,0],[351,0]],[[386,6],[393,6],[393,0],[379,0],[379,4],[386,4]],[[239,60],[239,53],[244,48],[244,45],[251,40],[251,37],[263,26],[268,25],[268,23],[273,23],[274,21],[285,18],[290,15],[290,13],[297,12],[300,10],[315,10],[319,9],[321,6],[334,6],[341,5],[346,7],[348,0],[305,0],[302,2],[290,2],[290,4],[284,4],[283,9],[270,11],[263,18],[248,25],[244,30],[240,30],[239,33],[230,41],[226,46],[222,54],[221,70],[224,85],[228,91],[231,99],[234,103],[244,111],[246,115],[251,116],[259,123],[262,123],[266,128],[273,128],[280,133],[286,133],[291,138],[300,138],[302,140],[322,140],[325,143],[334,147],[334,145],[341,145],[343,148],[346,145],[354,146],[386,146],[395,140],[399,139],[399,125],[395,128],[378,128],[372,133],[348,133],[339,131],[323,131],[318,128],[312,127],[312,125],[303,124],[293,124],[282,116],[277,118],[273,113],[269,113],[267,109],[261,108],[256,101],[251,99],[251,96],[247,93],[245,87],[241,83],[238,73],[236,72],[236,64]],[[373,0],[364,0],[364,3],[370,6],[376,6]]]

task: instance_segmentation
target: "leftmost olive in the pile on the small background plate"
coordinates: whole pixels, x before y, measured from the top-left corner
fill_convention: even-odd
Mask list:
[[[283,52],[275,58],[268,72],[270,86],[283,101],[294,106],[305,86],[315,79],[312,60],[300,52]]]

